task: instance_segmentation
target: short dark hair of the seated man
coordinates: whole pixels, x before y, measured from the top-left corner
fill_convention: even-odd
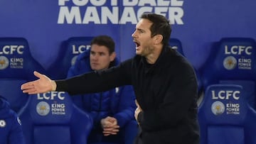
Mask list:
[[[92,39],[90,45],[102,45],[108,48],[110,54],[114,52],[114,40],[108,35],[99,35]]]

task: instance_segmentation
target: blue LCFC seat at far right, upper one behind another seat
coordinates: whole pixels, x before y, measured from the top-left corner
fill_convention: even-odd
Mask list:
[[[222,38],[201,67],[203,89],[210,84],[242,85],[255,108],[256,48],[252,38]]]

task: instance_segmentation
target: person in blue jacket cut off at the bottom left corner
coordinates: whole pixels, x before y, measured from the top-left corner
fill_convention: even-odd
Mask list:
[[[3,96],[0,96],[0,143],[25,144],[17,113],[11,110]]]

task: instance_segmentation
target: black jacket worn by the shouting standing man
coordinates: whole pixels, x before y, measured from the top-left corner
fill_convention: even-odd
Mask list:
[[[143,110],[138,116],[142,131],[137,143],[199,143],[196,74],[186,58],[169,47],[162,50],[154,65],[136,55],[117,67],[55,82],[57,91],[70,94],[132,84]]]

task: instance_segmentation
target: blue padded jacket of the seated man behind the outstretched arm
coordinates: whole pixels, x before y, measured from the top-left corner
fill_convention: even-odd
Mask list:
[[[110,63],[110,67],[118,65],[117,58]],[[70,67],[68,77],[73,77],[85,72],[92,72],[90,67],[90,50],[78,55],[75,65]],[[117,118],[117,123],[122,128],[129,121],[134,120],[135,94],[132,86],[116,87],[105,92],[81,94],[73,96],[74,103],[90,113],[94,120],[94,128],[100,126],[100,120],[107,116]]]

